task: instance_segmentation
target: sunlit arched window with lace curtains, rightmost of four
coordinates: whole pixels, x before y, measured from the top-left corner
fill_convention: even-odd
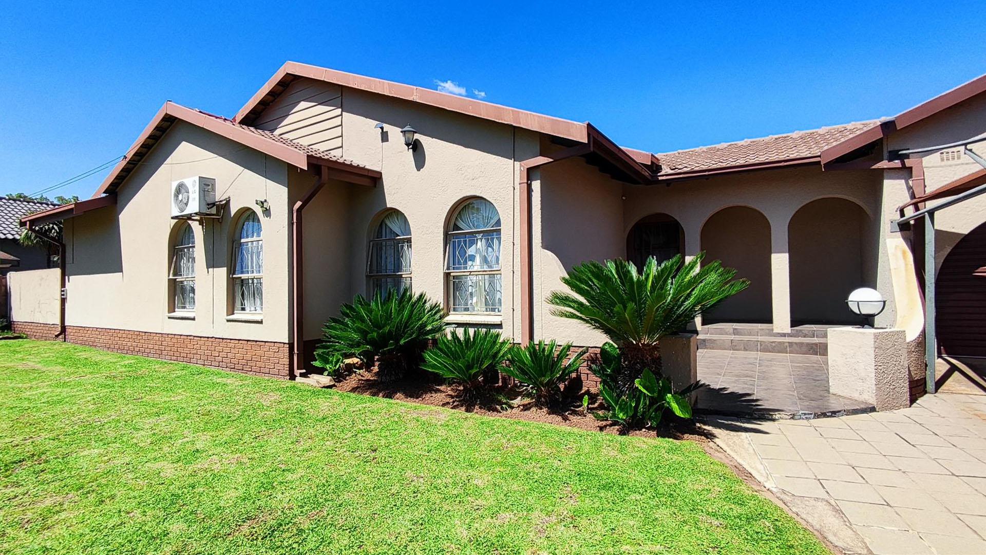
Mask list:
[[[500,225],[500,213],[485,198],[473,198],[458,208],[447,241],[450,312],[502,311]]]

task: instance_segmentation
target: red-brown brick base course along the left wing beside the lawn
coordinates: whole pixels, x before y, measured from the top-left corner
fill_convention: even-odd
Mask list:
[[[12,328],[31,339],[52,340],[58,333],[54,324],[13,322]],[[246,374],[287,378],[291,346],[269,341],[246,341],[214,337],[113,330],[68,326],[68,343],[95,347],[124,355],[162,358],[203,366],[214,366]]]

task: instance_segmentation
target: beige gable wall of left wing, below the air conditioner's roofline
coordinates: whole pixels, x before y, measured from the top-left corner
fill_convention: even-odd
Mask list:
[[[171,184],[191,176],[216,179],[217,198],[230,198],[221,221],[194,223],[194,319],[169,317]],[[228,321],[229,259],[234,215],[257,210],[264,241],[262,322]],[[259,212],[258,212],[259,213]],[[117,193],[115,206],[67,220],[69,326],[263,341],[288,340],[287,167],[199,127],[176,122]]]

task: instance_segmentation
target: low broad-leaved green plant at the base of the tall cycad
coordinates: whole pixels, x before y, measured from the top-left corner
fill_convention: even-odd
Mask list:
[[[674,393],[668,378],[658,378],[650,369],[645,369],[634,385],[634,389],[621,393],[610,384],[600,384],[599,394],[607,410],[593,416],[598,420],[617,423],[623,434],[645,426],[658,426],[666,410],[677,417],[690,419],[692,410],[688,396],[705,384],[696,381]]]

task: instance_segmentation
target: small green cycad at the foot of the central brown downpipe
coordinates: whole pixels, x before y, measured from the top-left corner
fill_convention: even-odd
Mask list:
[[[571,351],[571,343],[559,348],[554,340],[528,343],[526,347],[515,346],[510,351],[510,365],[503,373],[527,384],[534,402],[546,407],[560,398],[562,384],[579,369],[589,352],[583,349],[570,358]]]

